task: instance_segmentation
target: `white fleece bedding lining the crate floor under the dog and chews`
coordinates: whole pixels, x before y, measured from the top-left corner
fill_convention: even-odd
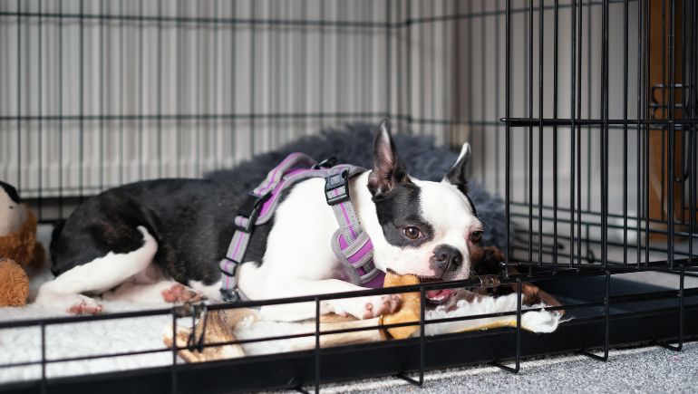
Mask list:
[[[48,245],[50,227],[39,228],[39,239]],[[52,275],[48,264],[40,272],[30,273],[30,301],[33,300],[39,286]],[[126,312],[144,309],[159,309],[170,306],[167,303],[133,304],[127,302],[104,302],[108,312]],[[533,332],[552,332],[557,328],[559,316],[557,313],[542,311],[541,305],[533,310],[528,309],[522,316],[522,327]],[[458,309],[446,312],[442,309],[428,311],[426,318],[465,316],[490,312],[505,312],[516,310],[516,296],[509,295],[493,299],[484,297],[480,302],[461,302]],[[65,316],[66,312],[43,309],[29,304],[23,308],[0,308],[0,322],[17,321],[50,316]],[[442,332],[465,331],[475,327],[487,326],[493,322],[511,322],[515,317],[480,319],[477,321],[447,322],[427,325],[427,334],[435,335]],[[103,353],[119,353],[124,351],[145,351],[165,349],[162,341],[162,331],[171,322],[170,315],[119,319],[98,322],[82,322],[73,324],[52,325],[46,328],[46,357],[48,360],[63,359]],[[189,319],[181,319],[181,324],[189,323]],[[501,325],[501,324],[500,324]],[[506,325],[506,324],[504,324]],[[238,338],[248,339],[260,336],[299,333],[307,331],[307,326],[287,322],[242,322],[238,324]],[[303,339],[292,341],[275,341],[251,343],[245,346],[247,354],[287,351],[293,341],[308,341]],[[314,341],[314,339],[312,339]],[[297,343],[296,343],[297,345]],[[296,346],[297,348],[297,346]],[[41,360],[41,332],[38,327],[0,330],[0,365],[26,361]],[[80,374],[91,374],[114,370],[131,370],[145,367],[169,365],[171,353],[143,354],[137,356],[111,357],[106,359],[79,360],[59,363],[49,363],[46,375],[49,378]],[[183,362],[183,361],[181,361]],[[0,384],[15,380],[34,380],[41,377],[41,366],[31,365],[15,368],[0,368]]]

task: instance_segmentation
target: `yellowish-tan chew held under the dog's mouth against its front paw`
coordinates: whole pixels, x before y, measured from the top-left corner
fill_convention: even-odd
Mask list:
[[[419,284],[420,280],[414,275],[385,274],[383,287],[406,286],[409,284]],[[402,307],[398,312],[384,314],[383,324],[396,324],[400,322],[420,321],[420,293],[402,293]],[[393,327],[388,329],[388,333],[396,340],[410,337],[420,329],[419,325],[404,327]]]

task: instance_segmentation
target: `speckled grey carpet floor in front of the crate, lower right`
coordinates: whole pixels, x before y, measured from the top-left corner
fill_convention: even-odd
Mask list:
[[[681,352],[660,347],[611,351],[606,362],[581,355],[527,360],[516,375],[482,365],[431,371],[421,389],[384,378],[325,385],[321,392],[698,392],[698,342],[684,344]]]

